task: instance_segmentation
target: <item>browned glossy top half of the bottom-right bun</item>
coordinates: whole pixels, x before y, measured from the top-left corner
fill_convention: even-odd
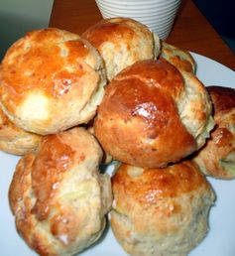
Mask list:
[[[135,214],[135,203],[136,206],[155,207],[184,194],[194,193],[196,196],[199,191],[211,192],[214,196],[209,183],[198,172],[197,165],[190,161],[164,169],[143,169],[122,164],[112,177],[112,187],[116,195],[113,207],[123,214]]]

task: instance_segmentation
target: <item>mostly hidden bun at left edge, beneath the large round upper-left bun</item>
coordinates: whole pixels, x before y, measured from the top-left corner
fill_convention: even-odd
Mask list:
[[[0,108],[0,150],[14,155],[25,155],[36,149],[42,136],[17,127]]]

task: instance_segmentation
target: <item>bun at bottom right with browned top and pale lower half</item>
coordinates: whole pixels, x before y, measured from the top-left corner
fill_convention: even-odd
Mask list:
[[[187,255],[206,235],[215,194],[198,167],[121,165],[112,178],[111,227],[135,256]]]

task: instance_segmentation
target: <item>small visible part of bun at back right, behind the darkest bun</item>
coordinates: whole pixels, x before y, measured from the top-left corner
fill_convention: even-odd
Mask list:
[[[161,41],[160,57],[176,65],[177,68],[193,73],[196,71],[196,63],[190,53],[164,41]]]

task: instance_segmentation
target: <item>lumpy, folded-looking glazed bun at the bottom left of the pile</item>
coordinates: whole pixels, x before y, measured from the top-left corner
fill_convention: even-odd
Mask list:
[[[101,235],[111,183],[102,150],[83,128],[42,139],[18,163],[9,200],[20,235],[40,255],[74,255]]]

